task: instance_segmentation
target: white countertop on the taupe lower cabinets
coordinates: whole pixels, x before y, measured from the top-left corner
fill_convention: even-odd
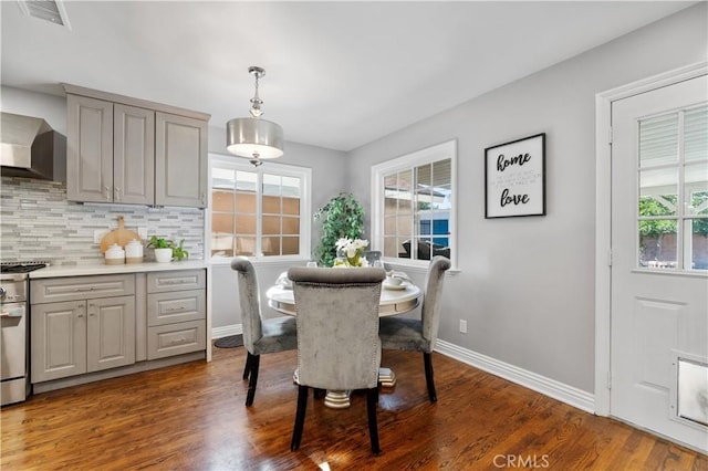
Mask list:
[[[144,272],[163,272],[174,270],[195,270],[206,269],[209,263],[205,260],[185,260],[181,262],[169,263],[131,263],[126,265],[52,265],[28,273],[30,279],[40,278],[58,278],[58,276],[82,276],[82,275],[102,275],[116,273],[144,273]]]

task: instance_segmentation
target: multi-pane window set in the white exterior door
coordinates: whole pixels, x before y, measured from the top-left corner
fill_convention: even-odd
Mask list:
[[[639,121],[638,263],[708,270],[708,106]]]

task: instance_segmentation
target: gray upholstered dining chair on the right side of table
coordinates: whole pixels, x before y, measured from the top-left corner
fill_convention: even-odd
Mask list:
[[[433,379],[433,348],[438,337],[440,324],[440,303],[442,302],[442,282],[450,261],[436,255],[428,265],[425,281],[425,294],[420,318],[386,316],[381,318],[382,348],[395,350],[421,352],[425,367],[425,380],[431,402],[438,400]]]

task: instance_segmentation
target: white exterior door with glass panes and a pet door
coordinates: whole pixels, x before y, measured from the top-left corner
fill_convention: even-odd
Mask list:
[[[708,451],[708,80],[612,104],[610,414]]]

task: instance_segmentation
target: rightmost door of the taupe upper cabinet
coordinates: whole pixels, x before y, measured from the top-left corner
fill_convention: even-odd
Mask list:
[[[155,203],[207,206],[207,123],[156,113]]]

